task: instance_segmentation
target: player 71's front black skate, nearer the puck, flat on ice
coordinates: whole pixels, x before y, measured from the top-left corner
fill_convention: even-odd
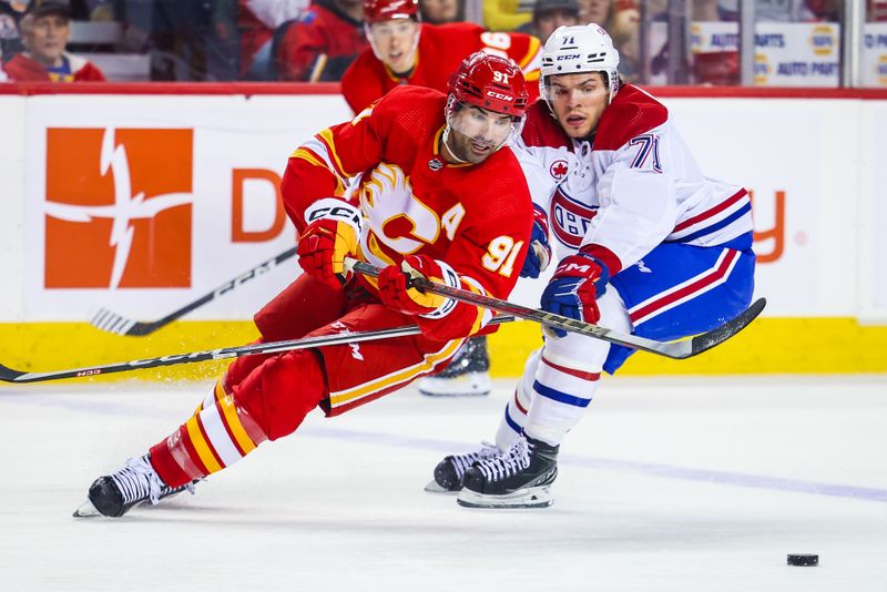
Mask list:
[[[479,460],[462,476],[457,501],[467,508],[546,508],[553,503],[558,446],[518,436],[507,452]]]

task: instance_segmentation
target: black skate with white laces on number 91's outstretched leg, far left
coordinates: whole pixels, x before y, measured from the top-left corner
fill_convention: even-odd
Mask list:
[[[120,518],[143,501],[156,504],[163,498],[185,490],[194,493],[194,483],[176,488],[164,483],[151,466],[150,459],[150,455],[131,458],[126,461],[126,466],[114,474],[96,479],[90,486],[89,501],[78,508],[74,518],[91,516]]]

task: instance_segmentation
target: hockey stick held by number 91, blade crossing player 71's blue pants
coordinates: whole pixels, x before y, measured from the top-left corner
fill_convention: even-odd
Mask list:
[[[345,265],[355,272],[370,277],[377,277],[380,271],[375,265],[359,262],[350,257],[346,257]],[[656,341],[655,339],[648,339],[638,335],[616,333],[598,325],[592,325],[591,323],[584,323],[574,318],[547,313],[546,310],[528,308],[526,306],[509,303],[508,300],[492,298],[483,294],[476,294],[473,292],[445,286],[443,284],[431,282],[430,279],[421,276],[414,277],[410,282],[417,289],[447,296],[453,300],[482,306],[483,308],[489,308],[490,310],[496,310],[497,313],[513,315],[518,318],[532,320],[549,327],[555,327],[558,329],[564,329],[568,331],[578,333],[580,335],[588,335],[589,337],[603,339],[604,341],[610,341],[611,344],[626,346],[633,349],[640,349],[642,351],[649,351],[650,354],[657,354],[660,356],[665,356],[666,358],[673,359],[690,358],[726,341],[744,329],[752,320],[754,320],[767,304],[764,298],[758,298],[752,303],[752,306],[740,313],[733,319],[727,320],[720,327],[715,327],[714,329],[702,335],[697,335],[691,339],[684,339],[681,341]]]

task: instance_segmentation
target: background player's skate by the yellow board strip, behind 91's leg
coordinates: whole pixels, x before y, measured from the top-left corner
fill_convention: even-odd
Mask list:
[[[472,337],[442,372],[427,376],[417,381],[419,392],[429,397],[471,397],[489,395],[490,356],[487,354],[487,338]]]

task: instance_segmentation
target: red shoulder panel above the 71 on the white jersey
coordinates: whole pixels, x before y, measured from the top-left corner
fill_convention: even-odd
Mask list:
[[[626,84],[601,116],[594,134],[594,150],[619,150],[632,137],[659,127],[667,119],[665,105],[641,89]]]

